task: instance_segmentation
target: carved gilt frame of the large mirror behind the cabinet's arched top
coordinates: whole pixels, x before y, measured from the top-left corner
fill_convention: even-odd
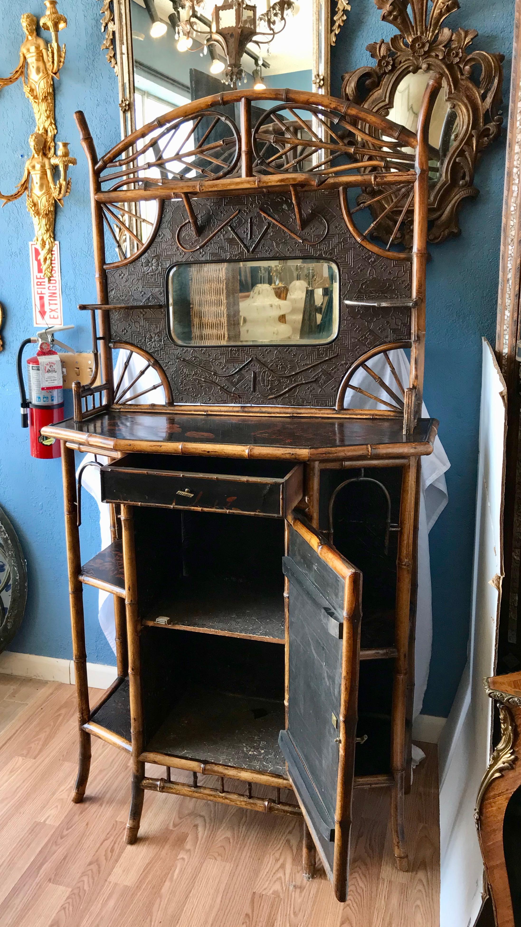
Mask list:
[[[332,33],[329,0],[306,0],[306,4],[309,3],[311,3],[313,32],[312,61],[310,62],[312,89],[317,94],[328,95],[330,92],[330,47],[335,43],[345,15],[342,15],[341,21],[336,20]],[[346,4],[345,0],[338,0],[337,7],[338,10],[349,9],[349,4]],[[135,130],[131,0],[102,0],[100,14],[101,29],[105,35],[101,47],[107,51],[108,63],[118,75],[121,138],[125,138]],[[229,87],[222,86],[223,91],[229,89]]]

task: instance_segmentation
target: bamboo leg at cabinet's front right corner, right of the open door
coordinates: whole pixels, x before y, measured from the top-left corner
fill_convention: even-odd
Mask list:
[[[413,572],[413,527],[416,491],[416,460],[403,467],[398,542],[395,645],[391,720],[391,769],[394,788],[391,796],[391,826],[394,855],[399,870],[407,870],[403,795],[405,788],[405,724],[409,681],[409,643],[411,627],[411,579]]]

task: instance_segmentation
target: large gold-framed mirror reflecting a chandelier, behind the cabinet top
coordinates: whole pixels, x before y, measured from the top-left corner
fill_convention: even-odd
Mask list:
[[[100,12],[121,137],[239,84],[329,93],[329,0],[102,0]]]

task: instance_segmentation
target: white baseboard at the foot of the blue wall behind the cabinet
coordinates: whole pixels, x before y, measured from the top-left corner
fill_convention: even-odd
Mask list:
[[[0,654],[0,673],[10,676],[31,676],[32,679],[46,679],[49,682],[70,682],[74,685],[74,661],[61,660],[56,656],[38,654]],[[101,663],[87,663],[87,679],[95,689],[108,689],[117,677],[116,667]],[[418,715],[413,723],[413,739],[426,743],[438,743],[445,724],[445,717]]]

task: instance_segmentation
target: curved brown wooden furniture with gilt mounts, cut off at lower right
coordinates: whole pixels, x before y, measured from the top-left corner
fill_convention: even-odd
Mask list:
[[[498,705],[501,740],[490,758],[477,794],[477,835],[497,927],[515,927],[521,913],[518,876],[516,879],[516,867],[513,870],[512,860],[505,854],[505,842],[508,843],[508,806],[521,785],[521,673],[494,676],[484,681],[487,694]],[[515,824],[514,839],[518,844],[518,813]],[[518,865],[518,860],[515,863]]]

